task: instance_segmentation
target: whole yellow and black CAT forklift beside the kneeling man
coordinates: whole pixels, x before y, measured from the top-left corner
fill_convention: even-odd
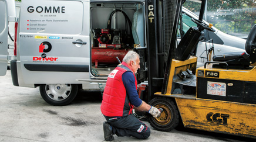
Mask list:
[[[245,53],[214,56],[213,61],[209,57],[204,67],[196,68],[197,43],[206,30],[214,29],[202,22],[206,5],[202,0],[199,19],[191,19],[198,26],[177,44],[184,2],[146,1],[147,49],[135,50],[141,56],[137,79],[147,76],[148,84],[140,86],[139,95],[163,109],[160,117],[149,117],[149,123],[160,131],[173,130],[182,122],[192,129],[256,138],[256,67],[252,66],[256,26],[248,35]]]

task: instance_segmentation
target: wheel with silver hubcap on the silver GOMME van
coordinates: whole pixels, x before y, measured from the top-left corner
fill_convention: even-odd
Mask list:
[[[78,94],[76,84],[43,84],[40,93],[45,102],[53,106],[68,105]]]

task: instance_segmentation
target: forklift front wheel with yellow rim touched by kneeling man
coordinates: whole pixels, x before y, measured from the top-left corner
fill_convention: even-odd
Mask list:
[[[178,126],[180,121],[178,109],[170,98],[156,97],[149,102],[156,108],[162,108],[163,112],[157,118],[149,117],[150,125],[159,131],[171,131]]]

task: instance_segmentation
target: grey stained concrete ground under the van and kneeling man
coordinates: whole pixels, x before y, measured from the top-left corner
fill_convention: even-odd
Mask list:
[[[0,77],[0,141],[104,141],[101,94],[80,91],[68,106],[51,106],[39,88],[12,85],[10,71]],[[156,131],[149,123],[147,140],[117,137],[114,141],[255,141],[207,131],[181,129]]]

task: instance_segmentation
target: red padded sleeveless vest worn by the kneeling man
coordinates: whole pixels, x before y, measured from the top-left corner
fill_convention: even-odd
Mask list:
[[[130,104],[129,98],[126,95],[122,75],[124,72],[130,71],[126,63],[118,65],[107,78],[106,87],[103,93],[103,100],[100,109],[105,116],[128,116],[132,113],[133,105]],[[134,74],[133,74],[134,75]],[[135,78],[135,86],[137,88],[137,80]]]

